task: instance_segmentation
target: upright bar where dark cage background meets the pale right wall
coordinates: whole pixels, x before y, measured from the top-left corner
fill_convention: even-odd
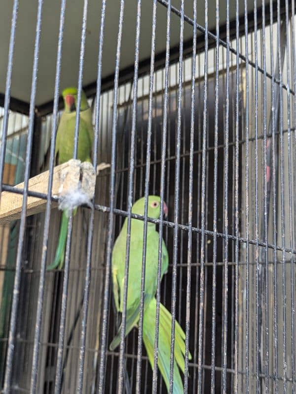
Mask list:
[[[239,0],[236,0],[236,51],[239,53]],[[236,56],[235,92],[235,316],[234,316],[234,394],[238,394],[238,297],[239,297],[239,57]]]

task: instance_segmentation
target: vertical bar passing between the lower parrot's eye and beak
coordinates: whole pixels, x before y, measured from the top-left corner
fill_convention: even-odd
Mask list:
[[[164,180],[165,180],[165,154],[168,121],[168,93],[169,93],[169,61],[170,61],[170,33],[171,33],[171,0],[167,4],[167,29],[166,29],[166,52],[165,52],[165,79],[163,96],[163,126],[161,142],[161,165],[160,165],[160,212],[163,212],[164,202]],[[159,218],[159,243],[158,243],[158,266],[157,266],[157,290],[156,290],[156,316],[155,316],[155,338],[154,338],[154,365],[152,377],[152,393],[157,391],[157,361],[158,361],[158,333],[159,333],[159,304],[160,304],[160,280],[162,261],[162,234],[163,215]]]

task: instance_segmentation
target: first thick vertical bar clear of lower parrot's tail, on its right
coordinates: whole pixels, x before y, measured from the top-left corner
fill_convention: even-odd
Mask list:
[[[205,275],[205,194],[206,194],[206,146],[208,112],[208,0],[205,0],[205,63],[204,63],[204,106],[202,132],[202,169],[201,169],[201,247],[200,247],[200,287],[199,287],[199,338],[198,338],[198,379],[197,393],[202,390],[202,350],[204,320],[204,275]]]

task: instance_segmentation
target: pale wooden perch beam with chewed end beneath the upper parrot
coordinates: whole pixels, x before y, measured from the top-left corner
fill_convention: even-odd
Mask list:
[[[29,191],[47,194],[49,171],[29,179]],[[56,166],[53,170],[52,196],[62,197],[66,193],[78,188],[92,199],[95,193],[96,171],[91,163],[80,160],[69,160],[67,163]],[[24,188],[24,183],[15,185],[18,189]],[[45,211],[46,199],[28,196],[27,216]],[[23,195],[10,191],[1,193],[0,224],[7,224],[20,219],[23,206]],[[52,208],[58,203],[52,202]]]

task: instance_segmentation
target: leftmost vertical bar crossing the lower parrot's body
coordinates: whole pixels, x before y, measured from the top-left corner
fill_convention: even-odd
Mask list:
[[[141,0],[138,0],[137,1],[137,23],[136,23],[132,127],[131,127],[129,179],[128,179],[127,236],[126,236],[126,254],[125,254],[125,267],[124,267],[122,320],[121,320],[122,330],[121,330],[121,336],[120,336],[119,367],[118,367],[118,392],[119,393],[123,393],[123,369],[124,369],[124,355],[123,355],[123,353],[124,353],[126,307],[127,307],[127,287],[128,287],[129,255],[130,255],[130,239],[131,239],[131,223],[132,223],[131,213],[132,213],[132,205],[133,205],[133,182],[134,182],[134,170],[135,170],[135,137],[136,137],[136,121],[137,121],[140,26],[141,26]]]

